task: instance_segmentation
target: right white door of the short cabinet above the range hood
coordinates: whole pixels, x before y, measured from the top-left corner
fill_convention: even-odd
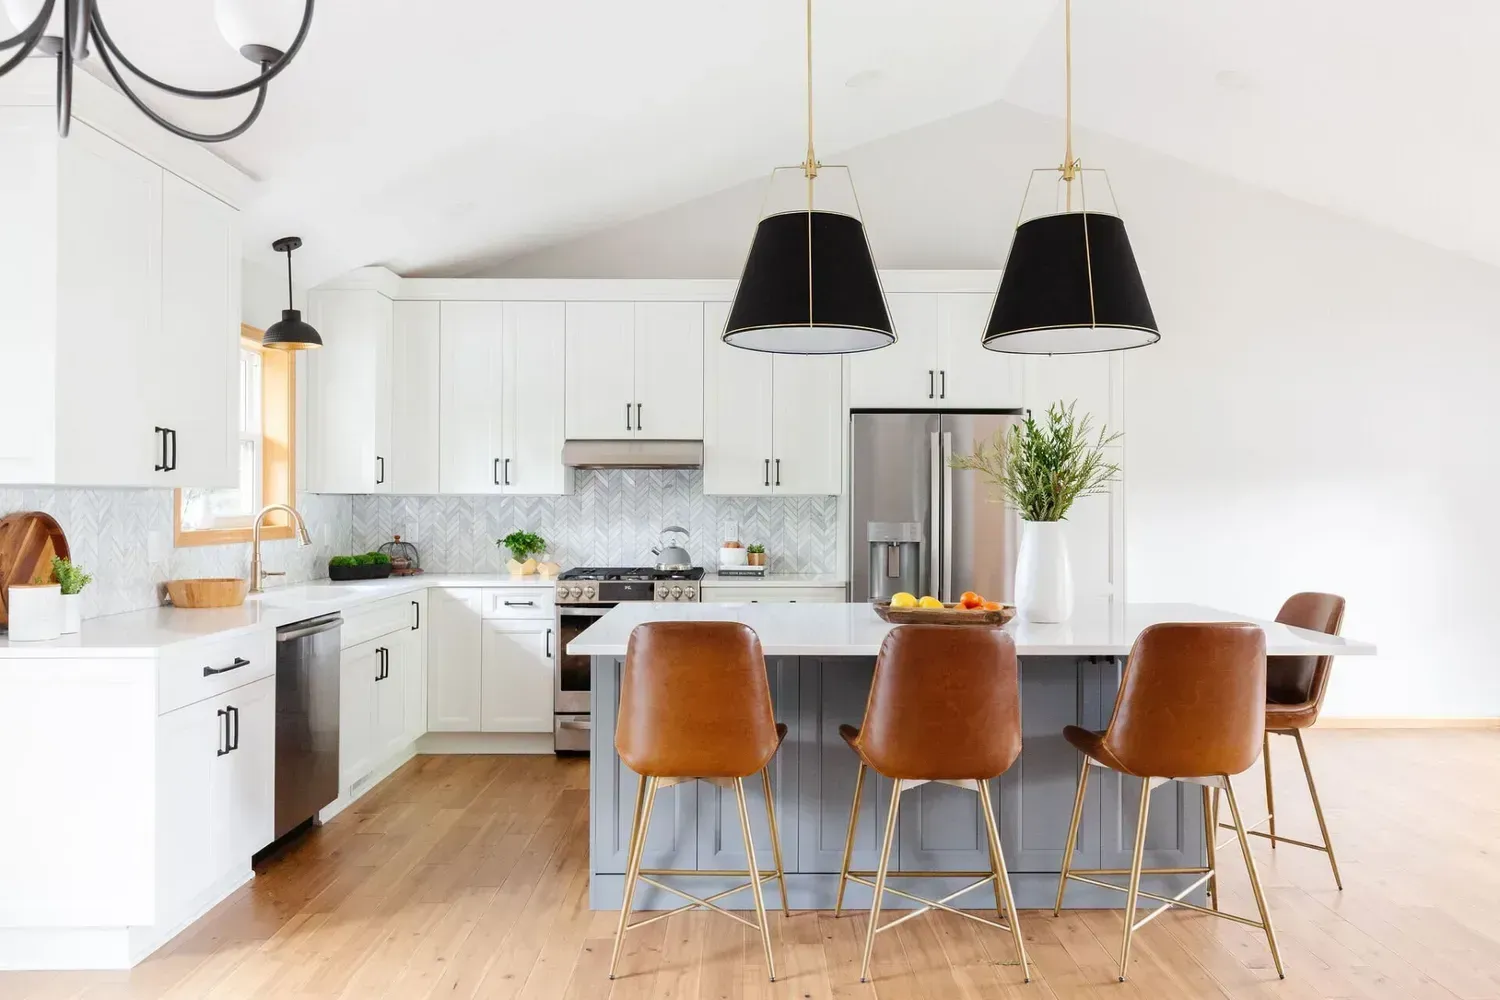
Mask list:
[[[636,304],[636,436],[704,436],[704,304]]]

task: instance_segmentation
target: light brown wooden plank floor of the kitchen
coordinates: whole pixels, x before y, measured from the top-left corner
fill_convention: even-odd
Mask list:
[[[1030,985],[1006,936],[948,915],[882,936],[861,985],[862,913],[776,918],[776,984],[738,924],[674,916],[632,936],[610,984],[615,915],[586,909],[586,762],[418,757],[135,970],[0,973],[0,997],[1500,997],[1500,733],[1308,744],[1347,889],[1322,855],[1257,846],[1286,982],[1257,931],[1168,913],[1119,984],[1118,912],[1026,912]],[[1308,837],[1296,754],[1275,751],[1281,832]],[[1258,813],[1254,774],[1236,787]],[[1252,912],[1226,871],[1227,903]]]

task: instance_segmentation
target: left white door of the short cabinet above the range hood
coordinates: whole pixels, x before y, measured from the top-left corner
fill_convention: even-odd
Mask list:
[[[604,439],[634,436],[634,304],[568,303],[566,315],[567,436]]]

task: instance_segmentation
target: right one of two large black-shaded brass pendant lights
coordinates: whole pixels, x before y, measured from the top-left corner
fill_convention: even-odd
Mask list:
[[[1136,267],[1114,192],[1101,169],[1072,156],[1072,0],[1064,0],[1066,147],[1062,165],[1032,171],[1011,253],[990,307],[982,343],[1005,354],[1094,354],[1143,348],[1161,339]],[[1022,222],[1036,174],[1058,183],[1041,213]],[[1086,174],[1095,174],[1090,189]],[[1042,192],[1047,193],[1047,192]],[[1108,195],[1110,210],[1101,210]],[[1094,199],[1090,205],[1089,199]]]

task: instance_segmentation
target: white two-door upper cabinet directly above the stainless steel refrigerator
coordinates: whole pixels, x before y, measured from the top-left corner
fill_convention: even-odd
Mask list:
[[[1022,358],[980,345],[992,295],[886,295],[896,343],[849,357],[849,405],[894,409],[1022,406]]]

